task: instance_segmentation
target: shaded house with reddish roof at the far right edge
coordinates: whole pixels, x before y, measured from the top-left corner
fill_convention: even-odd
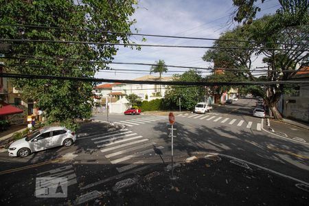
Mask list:
[[[291,80],[308,81],[309,67],[299,69]],[[292,93],[283,94],[277,108],[283,117],[309,122],[309,85],[299,84],[293,88]]]

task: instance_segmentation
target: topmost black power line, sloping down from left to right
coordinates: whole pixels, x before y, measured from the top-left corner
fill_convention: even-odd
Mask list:
[[[244,40],[235,40],[235,39],[220,39],[220,38],[201,38],[201,37],[190,37],[190,36],[169,36],[169,35],[158,35],[158,34],[135,34],[129,32],[111,32],[106,30],[88,30],[88,29],[79,29],[72,27],[50,27],[50,26],[41,26],[41,25],[23,25],[23,24],[10,24],[10,23],[1,23],[2,26],[11,26],[11,27],[32,27],[32,28],[42,28],[42,29],[52,29],[52,30],[71,30],[71,31],[80,31],[80,32],[94,32],[94,33],[104,33],[104,34],[122,34],[128,36],[151,36],[151,37],[163,37],[163,38],[183,38],[183,39],[192,39],[192,40],[204,40],[204,41],[223,41],[223,42],[236,42],[236,43],[261,43],[267,44],[270,42],[266,41],[244,41]],[[291,44],[291,43],[273,43],[276,45],[303,45],[303,44]]]

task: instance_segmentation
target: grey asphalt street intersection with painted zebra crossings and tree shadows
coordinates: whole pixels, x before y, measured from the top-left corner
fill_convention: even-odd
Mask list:
[[[289,184],[290,181],[308,184],[309,145],[271,133],[262,119],[252,117],[255,101],[240,99],[201,115],[178,113],[174,124],[174,161],[219,153],[251,163],[266,174],[286,179]],[[94,118],[107,120],[106,114]],[[84,137],[78,137],[70,148],[36,152],[24,159],[1,152],[1,205],[27,205],[30,200],[34,205],[82,203],[80,200],[95,198],[89,192],[108,190],[127,176],[171,162],[167,116],[109,115],[108,120],[119,127],[100,122],[84,124],[79,131]],[[306,130],[297,132],[298,137],[308,136]],[[67,178],[67,198],[37,198],[34,191],[41,177]]]

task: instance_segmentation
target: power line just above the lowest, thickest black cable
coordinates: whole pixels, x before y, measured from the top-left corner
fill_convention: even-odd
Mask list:
[[[0,56],[0,58],[10,58],[10,59],[25,59],[25,60],[46,60],[46,61],[71,61],[71,62],[88,62],[88,63],[104,63],[104,64],[115,64],[115,65],[146,65],[146,66],[156,66],[156,64],[148,64],[148,63],[139,63],[139,62],[109,62],[109,61],[101,61],[101,60],[80,60],[76,58],[32,58],[32,57],[12,57],[12,56]],[[187,67],[187,66],[178,66],[178,65],[165,65],[165,67],[174,67],[174,68],[184,68],[184,69],[201,69],[201,70],[225,70],[225,71],[269,71],[269,72],[286,72],[286,73],[293,73],[295,70],[265,70],[265,69],[239,69],[239,68],[222,68],[222,67],[213,67],[213,68],[205,68],[205,67]],[[108,69],[112,70],[112,69]]]

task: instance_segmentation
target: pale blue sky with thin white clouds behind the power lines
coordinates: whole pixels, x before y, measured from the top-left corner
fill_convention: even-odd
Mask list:
[[[273,14],[279,8],[277,0],[266,0],[260,4],[261,12]],[[137,29],[139,34],[157,34],[168,36],[190,36],[202,38],[219,38],[222,32],[233,29],[238,23],[231,21],[231,13],[235,8],[232,0],[139,0],[135,14],[130,20],[136,19],[131,31]],[[144,44],[154,45],[192,45],[211,46],[213,41],[188,40],[175,38],[159,38],[145,36]],[[141,43],[142,36],[131,36],[130,40]],[[141,47],[141,50],[119,46],[114,62],[142,62],[154,64],[157,60],[164,60],[166,65],[181,65],[187,67],[208,67],[209,62],[202,60],[207,49]],[[253,67],[261,67],[262,57],[253,62]],[[139,65],[110,65],[113,69],[127,69],[128,71],[102,71],[95,78],[132,80],[149,74],[150,66]],[[130,71],[132,69],[147,70],[143,72]],[[173,71],[188,69],[168,68],[163,76],[172,76]],[[203,71],[205,72],[205,71]],[[158,74],[155,74],[158,75]],[[203,73],[203,76],[209,73]]]

